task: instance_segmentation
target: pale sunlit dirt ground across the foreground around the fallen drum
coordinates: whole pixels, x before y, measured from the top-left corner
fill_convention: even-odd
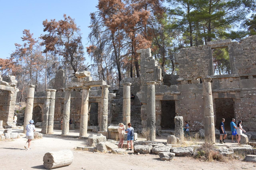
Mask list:
[[[37,129],[40,131],[41,129]],[[13,129],[13,132],[22,132],[21,129]],[[0,130],[0,134],[3,129]],[[60,134],[60,130],[54,130]],[[71,135],[79,135],[78,132],[70,132]],[[231,160],[230,162],[203,162],[191,157],[175,157],[172,161],[161,161],[158,155],[153,154],[112,154],[75,150],[77,146],[85,144],[84,139],[60,138],[57,135],[44,135],[42,139],[32,140],[31,150],[26,150],[24,144],[27,139],[21,137],[10,141],[0,141],[0,170],[29,170],[45,169],[43,156],[50,151],[70,149],[73,152],[73,163],[61,170],[256,170],[256,163]]]

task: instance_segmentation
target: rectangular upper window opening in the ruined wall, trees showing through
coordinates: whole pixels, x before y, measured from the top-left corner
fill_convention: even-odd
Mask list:
[[[231,74],[228,47],[213,48],[213,75]]]

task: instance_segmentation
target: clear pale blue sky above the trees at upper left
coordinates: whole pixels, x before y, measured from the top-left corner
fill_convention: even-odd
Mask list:
[[[63,19],[63,14],[75,19],[80,26],[84,47],[88,46],[91,12],[97,11],[98,0],[9,0],[0,1],[0,58],[7,58],[15,51],[14,43],[23,44],[21,37],[24,29],[30,30],[34,38],[43,32],[45,19]],[[87,56],[86,52],[85,55]],[[86,58],[86,62],[90,62]]]

